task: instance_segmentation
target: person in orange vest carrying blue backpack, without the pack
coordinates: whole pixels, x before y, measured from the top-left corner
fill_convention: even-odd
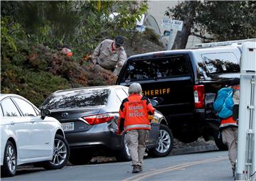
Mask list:
[[[237,159],[238,148],[238,107],[239,107],[239,84],[240,79],[235,78],[231,82],[230,87],[233,88],[233,116],[227,119],[221,119],[220,131],[223,143],[228,146],[228,158],[235,176],[235,162]]]

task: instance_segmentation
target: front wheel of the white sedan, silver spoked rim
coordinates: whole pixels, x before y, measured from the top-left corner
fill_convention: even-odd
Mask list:
[[[63,168],[68,163],[70,148],[68,141],[63,136],[56,135],[54,138],[53,160],[43,163],[43,168],[55,170]]]

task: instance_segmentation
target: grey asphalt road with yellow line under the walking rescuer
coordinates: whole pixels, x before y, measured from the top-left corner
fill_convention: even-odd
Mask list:
[[[7,180],[221,180],[232,181],[227,151],[146,158],[143,172],[132,174],[130,162],[66,166],[60,170],[23,169]]]

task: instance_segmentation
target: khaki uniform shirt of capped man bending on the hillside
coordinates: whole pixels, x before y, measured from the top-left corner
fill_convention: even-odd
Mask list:
[[[95,48],[92,54],[92,62],[98,63],[101,67],[108,70],[114,69],[116,65],[122,67],[127,60],[127,55],[122,46],[119,50],[112,51],[113,42],[113,40],[103,40]]]

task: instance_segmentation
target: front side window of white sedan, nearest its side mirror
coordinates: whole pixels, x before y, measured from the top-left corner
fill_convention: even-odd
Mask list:
[[[37,116],[35,109],[33,109],[33,106],[25,100],[14,97],[14,101],[18,105],[19,109],[21,109],[21,112],[24,116]]]

